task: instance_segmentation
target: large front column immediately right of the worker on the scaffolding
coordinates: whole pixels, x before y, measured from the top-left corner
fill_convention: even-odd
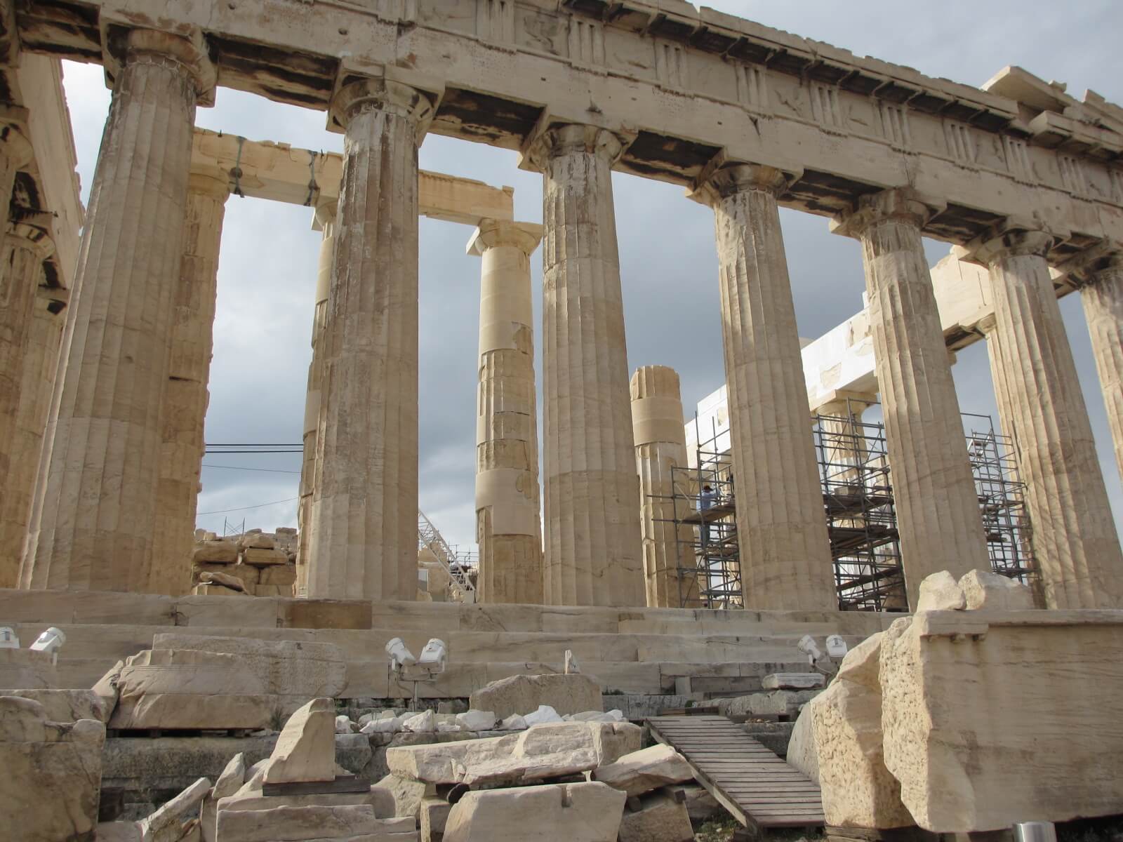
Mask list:
[[[741,164],[713,208],[745,606],[833,611],[834,573],[776,199],[788,176]]]

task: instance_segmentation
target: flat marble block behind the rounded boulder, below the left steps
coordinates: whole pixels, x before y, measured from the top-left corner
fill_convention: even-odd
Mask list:
[[[236,655],[244,669],[257,675],[265,693],[282,701],[299,698],[292,710],[309,698],[340,696],[347,685],[347,661],[335,643],[165,632],[154,635],[153,649]]]

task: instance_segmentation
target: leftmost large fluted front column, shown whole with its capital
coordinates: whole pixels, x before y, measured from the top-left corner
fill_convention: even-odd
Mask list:
[[[148,587],[192,126],[212,81],[197,43],[129,33],[64,332],[31,587]]]

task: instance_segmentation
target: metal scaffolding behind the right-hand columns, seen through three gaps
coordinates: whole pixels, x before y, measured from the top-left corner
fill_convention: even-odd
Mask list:
[[[861,409],[866,409],[862,404]],[[860,421],[856,406],[846,415],[815,415],[814,447],[823,491],[823,516],[830,538],[839,608],[907,611],[897,515],[888,465],[885,425]],[[979,430],[967,436],[979,511],[995,573],[1032,584],[1030,525],[1024,484],[1017,478],[1008,439],[996,433],[987,415],[964,413]],[[674,494],[654,498],[673,513],[677,538],[677,576],[682,607],[739,608],[740,555],[737,540],[732,457],[728,430],[703,439],[695,414],[693,465],[672,469]],[[714,498],[700,507],[700,491],[710,485]],[[660,519],[656,519],[660,520]],[[682,529],[686,528],[686,529]],[[688,586],[697,578],[696,596]]]

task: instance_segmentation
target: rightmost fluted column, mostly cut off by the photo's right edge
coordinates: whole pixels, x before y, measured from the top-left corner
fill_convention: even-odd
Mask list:
[[[1115,465],[1123,478],[1123,255],[1113,255],[1087,278],[1080,301],[1107,408]]]

